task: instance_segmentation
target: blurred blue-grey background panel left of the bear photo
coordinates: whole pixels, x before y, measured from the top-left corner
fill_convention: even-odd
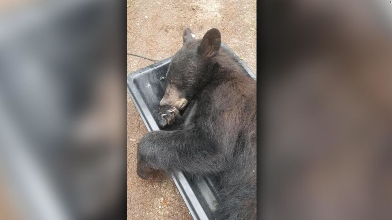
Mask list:
[[[125,219],[125,2],[0,5],[0,218]]]

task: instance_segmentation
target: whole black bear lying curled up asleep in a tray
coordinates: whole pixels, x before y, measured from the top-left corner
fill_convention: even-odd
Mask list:
[[[156,110],[163,130],[140,140],[137,173],[213,175],[216,219],[256,219],[256,81],[220,45],[218,29],[201,40],[184,30]]]

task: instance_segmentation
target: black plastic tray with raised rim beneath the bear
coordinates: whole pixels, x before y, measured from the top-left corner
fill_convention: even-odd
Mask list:
[[[225,44],[222,43],[221,48],[229,51],[248,74],[256,79],[252,70]],[[160,130],[158,124],[156,124],[152,117],[152,112],[159,105],[160,100],[165,94],[166,81],[161,81],[159,78],[165,77],[170,61],[171,57],[131,72],[127,76],[129,96],[131,96],[140,117],[142,117],[149,131]],[[214,219],[213,213],[216,207],[216,198],[219,195],[216,193],[214,181],[211,178],[205,177],[196,180],[187,177],[182,172],[178,172],[172,174],[172,179],[195,220]]]

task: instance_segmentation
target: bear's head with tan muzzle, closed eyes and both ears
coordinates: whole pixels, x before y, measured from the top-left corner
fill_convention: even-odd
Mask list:
[[[179,110],[211,79],[217,69],[216,55],[220,49],[221,34],[218,29],[205,33],[196,40],[191,29],[184,30],[183,45],[172,57],[166,73],[167,87],[160,105],[174,106]]]

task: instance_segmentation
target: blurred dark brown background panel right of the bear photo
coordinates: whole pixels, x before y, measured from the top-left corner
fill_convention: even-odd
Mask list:
[[[261,219],[392,219],[392,2],[261,10]]]

